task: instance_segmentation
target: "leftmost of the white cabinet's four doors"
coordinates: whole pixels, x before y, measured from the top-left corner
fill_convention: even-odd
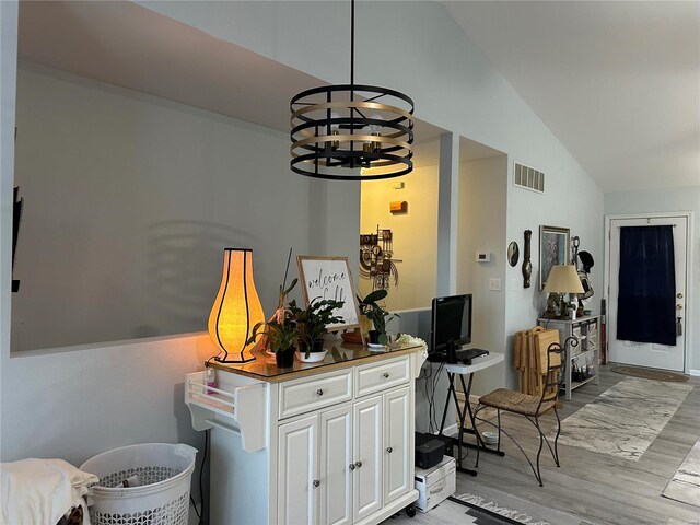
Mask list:
[[[298,525],[318,523],[316,447],[318,416],[279,428],[277,521]]]

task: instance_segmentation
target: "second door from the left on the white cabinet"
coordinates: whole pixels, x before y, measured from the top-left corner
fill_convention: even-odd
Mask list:
[[[352,405],[320,415],[320,523],[352,523]]]

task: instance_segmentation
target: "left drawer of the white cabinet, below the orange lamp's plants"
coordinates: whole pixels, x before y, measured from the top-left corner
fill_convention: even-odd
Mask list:
[[[316,375],[280,385],[280,419],[352,399],[352,371]]]

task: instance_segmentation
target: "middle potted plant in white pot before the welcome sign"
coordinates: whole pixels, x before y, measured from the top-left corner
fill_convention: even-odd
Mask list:
[[[326,326],[342,322],[342,317],[334,315],[334,312],[343,304],[343,301],[319,298],[312,300],[306,308],[296,306],[295,301],[290,303],[289,310],[299,331],[300,355],[303,353],[304,359],[308,359],[311,352],[323,352]]]

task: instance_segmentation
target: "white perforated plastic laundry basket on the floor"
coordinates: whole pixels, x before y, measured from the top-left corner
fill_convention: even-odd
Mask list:
[[[91,489],[93,525],[187,525],[197,450],[185,444],[144,443],[103,452],[81,470],[96,475]],[[121,487],[138,476],[140,486]]]

